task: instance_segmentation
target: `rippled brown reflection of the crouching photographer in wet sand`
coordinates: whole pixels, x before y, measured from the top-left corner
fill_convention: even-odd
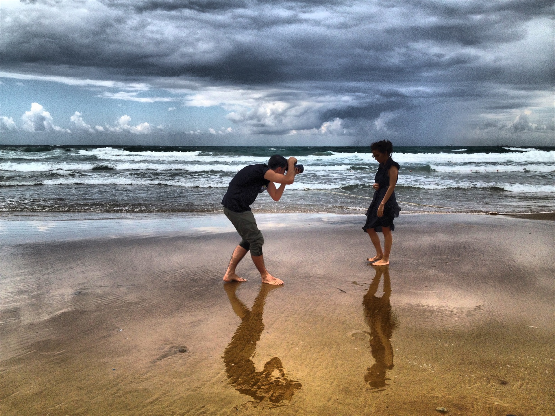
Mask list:
[[[290,400],[295,390],[301,388],[301,383],[285,377],[281,360],[278,357],[269,359],[264,364],[262,371],[256,371],[253,360],[251,360],[256,349],[256,342],[260,340],[260,334],[264,330],[262,314],[266,295],[278,286],[263,284],[249,311],[235,295],[239,284],[234,282],[224,285],[233,311],[241,318],[241,324],[224,351],[223,359],[228,379],[231,384],[235,385],[238,392],[249,395],[258,403],[264,399],[268,399],[271,403]]]

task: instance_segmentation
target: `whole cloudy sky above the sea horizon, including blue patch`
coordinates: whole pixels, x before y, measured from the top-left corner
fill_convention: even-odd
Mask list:
[[[555,146],[554,3],[3,0],[0,143]]]

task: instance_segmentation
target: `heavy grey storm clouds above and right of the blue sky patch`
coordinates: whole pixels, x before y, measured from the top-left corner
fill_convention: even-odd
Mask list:
[[[0,8],[4,73],[98,80],[105,99],[220,106],[244,134],[407,139],[420,134],[415,120],[421,130],[440,123],[441,135],[461,126],[476,134],[492,120],[521,126],[514,120],[524,110],[529,125],[553,119],[553,1],[37,0]]]

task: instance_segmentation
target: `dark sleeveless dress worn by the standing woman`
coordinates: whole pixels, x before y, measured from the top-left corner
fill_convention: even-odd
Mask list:
[[[398,217],[399,211],[401,211],[401,208],[395,199],[395,191],[393,191],[393,194],[391,194],[385,203],[384,216],[378,216],[378,207],[380,206],[382,199],[384,199],[384,195],[389,187],[389,176],[387,176],[387,171],[391,168],[391,166],[395,166],[399,169],[399,164],[389,158],[384,164],[380,163],[376,176],[374,177],[374,182],[376,182],[376,184],[380,184],[380,187],[374,191],[374,197],[372,197],[370,207],[366,211],[366,224],[362,227],[362,230],[365,232],[369,228],[373,228],[376,232],[382,232],[382,227],[391,227],[391,231],[395,230],[393,218]]]

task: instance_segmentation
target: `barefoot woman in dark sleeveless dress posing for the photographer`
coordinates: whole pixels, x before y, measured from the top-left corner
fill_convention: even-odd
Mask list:
[[[399,164],[391,159],[393,145],[389,140],[381,140],[372,143],[372,157],[380,164],[376,177],[374,197],[366,211],[366,224],[362,230],[366,231],[376,248],[376,255],[366,260],[373,266],[385,266],[389,264],[391,253],[391,231],[395,230],[393,218],[399,216],[400,207],[395,199],[395,185],[399,174]],[[380,237],[377,233],[384,233],[384,251],[380,245]]]

